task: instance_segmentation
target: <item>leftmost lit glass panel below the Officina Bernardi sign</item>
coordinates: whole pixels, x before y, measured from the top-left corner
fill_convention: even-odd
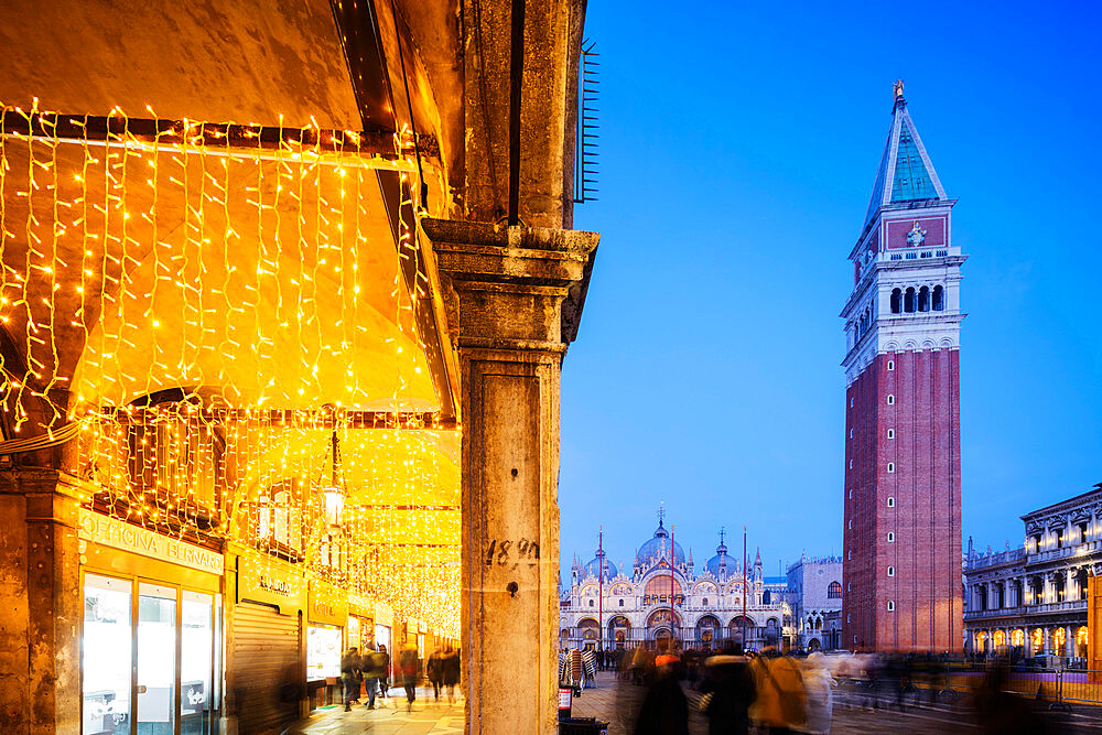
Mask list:
[[[84,735],[129,735],[130,580],[84,577]]]

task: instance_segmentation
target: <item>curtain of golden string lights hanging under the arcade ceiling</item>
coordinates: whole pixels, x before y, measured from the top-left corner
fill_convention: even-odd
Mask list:
[[[149,112],[0,109],[13,439],[75,433],[88,507],[242,542],[274,575],[457,636],[458,430],[436,426],[417,329],[429,278],[401,137],[380,152],[352,131]]]

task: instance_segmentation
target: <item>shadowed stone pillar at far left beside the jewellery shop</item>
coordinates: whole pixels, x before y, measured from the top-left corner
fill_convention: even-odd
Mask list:
[[[74,478],[0,472],[0,722],[80,732],[80,550]]]

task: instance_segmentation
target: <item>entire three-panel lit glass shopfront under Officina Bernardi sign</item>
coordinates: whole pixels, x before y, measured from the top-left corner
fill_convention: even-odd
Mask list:
[[[83,735],[217,732],[222,598],[84,574]]]

